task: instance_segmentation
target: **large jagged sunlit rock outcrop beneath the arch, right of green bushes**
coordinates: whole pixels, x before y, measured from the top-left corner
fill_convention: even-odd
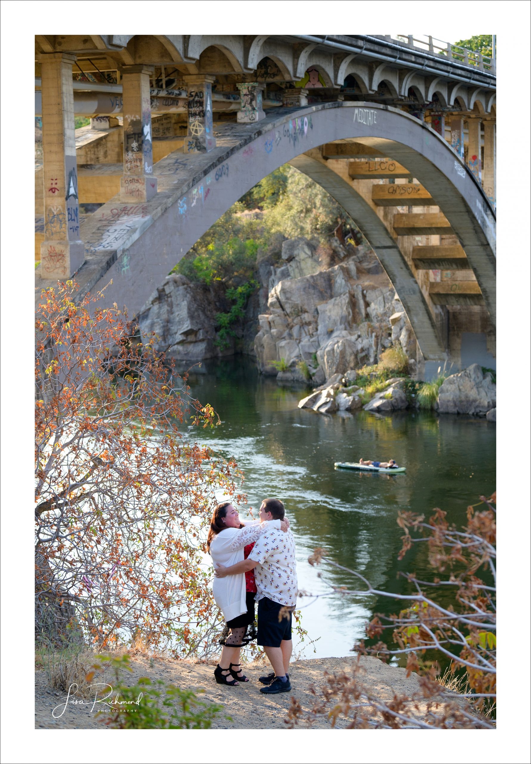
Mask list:
[[[270,264],[269,272],[259,268],[269,290],[254,345],[259,370],[278,376],[275,363],[284,361],[289,371],[280,372],[278,380],[288,374],[304,380],[305,364],[319,385],[334,374],[375,363],[394,341],[414,366],[416,338],[375,255],[363,245],[345,248],[338,240],[331,250],[340,262],[325,267],[316,244],[299,237],[283,242],[285,264]]]

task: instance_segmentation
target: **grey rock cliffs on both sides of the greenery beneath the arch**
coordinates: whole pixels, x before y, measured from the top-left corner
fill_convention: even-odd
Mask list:
[[[143,306],[141,334],[155,332],[157,350],[178,360],[237,350],[256,355],[262,374],[307,381],[309,373],[316,385],[375,363],[383,349],[399,342],[414,373],[417,341],[370,248],[336,238],[323,245],[280,236],[259,254],[256,270],[259,290],[226,347],[220,347],[216,333],[217,313],[230,309],[223,291],[180,274],[166,277]]]

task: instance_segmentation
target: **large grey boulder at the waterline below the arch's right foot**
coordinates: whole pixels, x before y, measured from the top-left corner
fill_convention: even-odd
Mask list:
[[[439,413],[485,416],[496,408],[496,385],[490,372],[483,374],[479,364],[472,364],[444,380],[438,403]]]

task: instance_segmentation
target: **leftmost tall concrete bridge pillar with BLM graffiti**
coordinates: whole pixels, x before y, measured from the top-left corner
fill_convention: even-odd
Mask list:
[[[79,238],[79,199],[74,128],[74,92],[69,53],[43,53],[44,241],[43,279],[69,279],[85,261]]]

